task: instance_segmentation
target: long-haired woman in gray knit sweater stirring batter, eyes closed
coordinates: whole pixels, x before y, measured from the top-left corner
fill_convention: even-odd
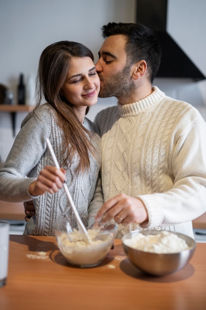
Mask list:
[[[51,44],[40,57],[37,105],[23,120],[0,169],[0,200],[33,199],[36,215],[26,223],[24,234],[53,235],[53,221],[70,210],[64,180],[80,215],[95,214],[103,204],[97,186],[100,138],[85,118],[100,91],[93,60],[88,48],[69,41]],[[61,169],[54,167],[46,138]]]

